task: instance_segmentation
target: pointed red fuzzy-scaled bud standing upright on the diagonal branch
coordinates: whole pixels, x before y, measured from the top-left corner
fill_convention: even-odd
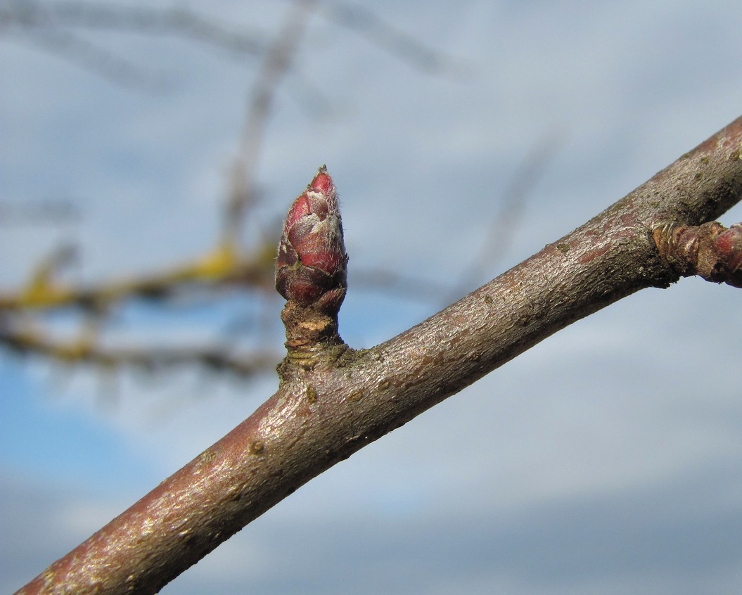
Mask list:
[[[337,313],[347,289],[347,262],[335,185],[323,165],[286,216],[276,289],[289,302]]]

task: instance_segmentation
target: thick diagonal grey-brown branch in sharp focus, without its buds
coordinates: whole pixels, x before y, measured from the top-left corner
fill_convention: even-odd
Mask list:
[[[278,391],[22,594],[155,593],[306,481],[568,324],[683,273],[653,232],[742,198],[742,118],[579,229],[372,349],[339,337],[280,366]],[[289,302],[290,304],[290,302]],[[288,316],[285,316],[289,318]],[[449,437],[456,447],[456,436]]]

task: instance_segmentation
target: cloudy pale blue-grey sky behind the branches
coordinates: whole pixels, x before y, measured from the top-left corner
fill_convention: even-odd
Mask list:
[[[187,6],[262,36],[289,8]],[[278,88],[244,234],[277,229],[327,165],[350,255],[341,335],[353,347],[554,242],[742,112],[738,1],[369,4],[446,56],[441,73],[338,22],[332,6],[312,16]],[[203,254],[220,231],[260,60],[174,36],[75,33],[142,81],[0,30],[3,291],[60,243],[79,252],[71,278],[95,282]],[[480,260],[524,164],[518,217]],[[27,217],[55,203],[70,216]],[[720,220],[742,220],[742,208]],[[424,289],[370,282],[379,269]],[[684,279],[574,323],[310,481],[162,593],[737,593],[739,300]],[[280,357],[281,306],[268,295],[174,311],[133,303],[106,338],[214,339],[237,320],[244,341]],[[209,447],[276,384],[270,372],[146,375],[0,351],[2,591]]]

